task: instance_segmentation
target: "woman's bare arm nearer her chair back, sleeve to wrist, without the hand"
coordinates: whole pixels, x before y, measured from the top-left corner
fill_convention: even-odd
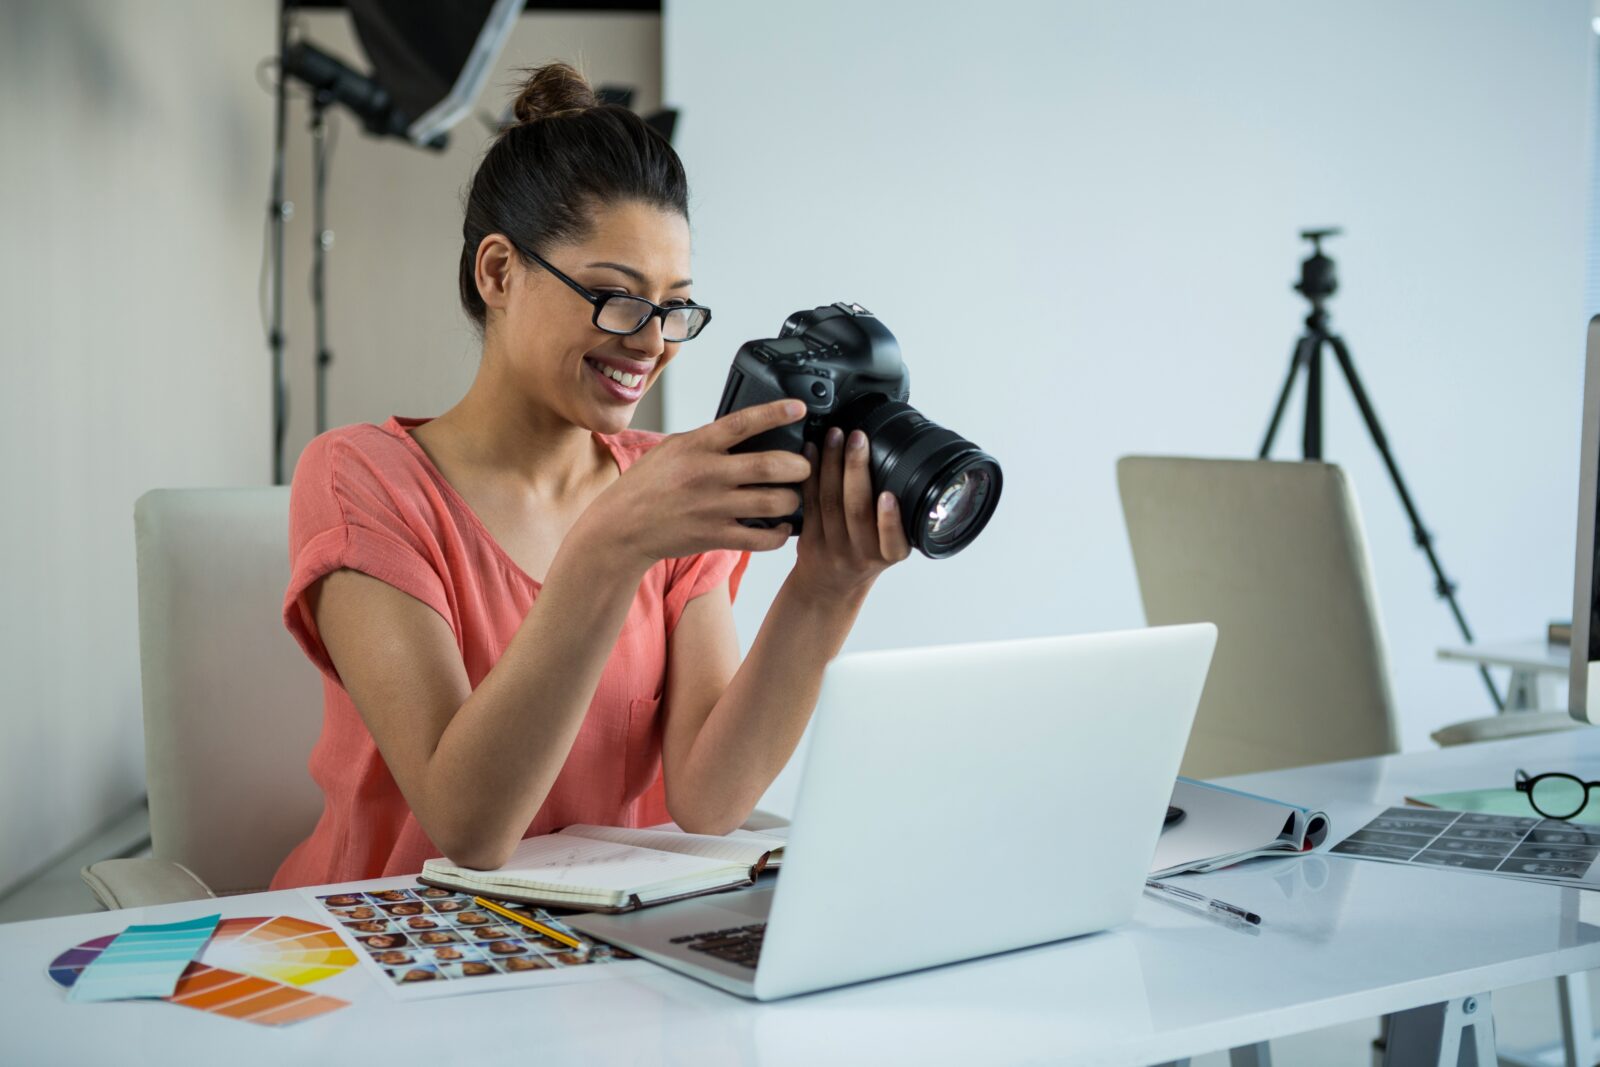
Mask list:
[[[648,566],[618,566],[586,541],[574,530],[562,544],[477,689],[450,625],[419,600],[357,571],[312,593],[384,763],[429,840],[462,865],[502,864],[544,803]]]

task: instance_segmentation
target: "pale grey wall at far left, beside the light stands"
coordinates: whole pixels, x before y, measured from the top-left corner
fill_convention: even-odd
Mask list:
[[[0,14],[0,891],[144,792],[133,501],[270,475],[272,13]]]

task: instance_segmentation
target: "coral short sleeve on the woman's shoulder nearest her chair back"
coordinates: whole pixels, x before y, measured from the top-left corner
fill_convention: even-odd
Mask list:
[[[290,488],[290,585],[283,625],[317,669],[339,673],[317,633],[306,592],[338,569],[370,574],[437,611],[454,630],[442,553],[378,458],[323,434],[301,453]],[[342,685],[342,683],[341,683]]]

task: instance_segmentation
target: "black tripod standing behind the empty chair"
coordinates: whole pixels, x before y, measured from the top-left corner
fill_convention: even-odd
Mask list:
[[[1333,259],[1322,251],[1322,242],[1328,237],[1338,237],[1341,232],[1338,227],[1301,230],[1301,237],[1312,245],[1312,254],[1301,262],[1301,280],[1294,290],[1310,301],[1310,315],[1306,317],[1306,333],[1294,342],[1294,354],[1290,357],[1290,373],[1283,381],[1283,390],[1278,392],[1278,403],[1272,410],[1272,422],[1267,424],[1267,437],[1261,442],[1259,458],[1266,459],[1272,451],[1272,440],[1278,435],[1278,422],[1283,421],[1283,410],[1288,406],[1290,392],[1294,389],[1294,376],[1304,366],[1306,429],[1301,440],[1301,454],[1306,459],[1322,459],[1322,350],[1323,347],[1333,349],[1333,355],[1339,362],[1339,370],[1344,371],[1344,381],[1350,387],[1350,395],[1355,397],[1355,406],[1362,411],[1362,421],[1366,422],[1366,434],[1373,438],[1373,445],[1378,446],[1378,454],[1382,456],[1384,466],[1389,469],[1389,480],[1394,482],[1395,493],[1400,496],[1400,506],[1411,520],[1411,536],[1416,545],[1422,549],[1422,553],[1427,555],[1429,566],[1434,568],[1434,592],[1450,605],[1450,614],[1454,616],[1456,625],[1461,629],[1461,637],[1470,645],[1472,629],[1467,625],[1466,616],[1461,614],[1461,605],[1456,603],[1456,582],[1445,577],[1445,568],[1434,552],[1434,536],[1422,526],[1422,517],[1418,515],[1416,504],[1411,502],[1411,493],[1405,486],[1405,478],[1400,477],[1400,466],[1389,451],[1389,438],[1384,437],[1384,427],[1379,426],[1378,413],[1366,397],[1360,374],[1355,373],[1350,349],[1344,344],[1344,338],[1328,330],[1328,309],[1323,304],[1338,291],[1339,282],[1334,274]],[[1488,686],[1494,709],[1502,710],[1506,704],[1501,699],[1499,689],[1494,688],[1494,680],[1490,677],[1488,667],[1480,665],[1478,675],[1483,678],[1483,685]]]

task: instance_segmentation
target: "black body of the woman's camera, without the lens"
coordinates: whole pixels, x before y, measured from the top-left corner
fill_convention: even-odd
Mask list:
[[[899,341],[861,304],[829,304],[790,315],[776,338],[746,341],[733,357],[717,418],[768,403],[800,400],[806,418],[766,430],[734,446],[741,453],[822,450],[830,426],[858,429],[850,418],[875,400],[910,398],[910,371]],[[778,525],[773,520],[770,525]],[[800,526],[797,525],[795,530]]]

